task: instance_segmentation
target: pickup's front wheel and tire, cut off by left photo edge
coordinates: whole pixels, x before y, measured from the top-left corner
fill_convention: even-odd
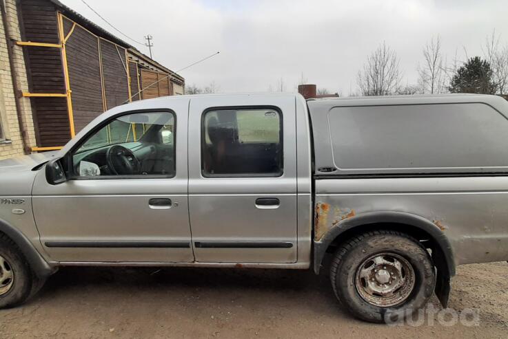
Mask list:
[[[18,246],[0,234],[0,309],[23,303],[32,291],[32,272]]]

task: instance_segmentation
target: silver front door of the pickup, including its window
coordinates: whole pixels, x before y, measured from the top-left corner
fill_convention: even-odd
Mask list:
[[[40,171],[34,217],[53,260],[194,260],[187,111],[188,100],[179,100],[171,109],[120,113],[85,135],[65,157],[67,182],[52,186]]]

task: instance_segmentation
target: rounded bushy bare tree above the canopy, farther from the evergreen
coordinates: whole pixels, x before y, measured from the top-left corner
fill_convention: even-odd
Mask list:
[[[364,96],[388,96],[400,87],[400,71],[396,52],[383,41],[376,51],[367,56],[363,70],[358,72],[357,83]]]

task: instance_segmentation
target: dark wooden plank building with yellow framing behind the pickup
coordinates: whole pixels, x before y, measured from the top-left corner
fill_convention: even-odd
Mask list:
[[[30,98],[37,140],[32,151],[60,149],[117,105],[183,94],[181,76],[60,1],[19,0],[17,14],[28,78],[22,96]]]

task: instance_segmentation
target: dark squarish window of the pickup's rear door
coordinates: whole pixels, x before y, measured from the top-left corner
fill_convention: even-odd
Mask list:
[[[202,126],[202,172],[207,177],[283,174],[282,114],[278,109],[207,111]]]

